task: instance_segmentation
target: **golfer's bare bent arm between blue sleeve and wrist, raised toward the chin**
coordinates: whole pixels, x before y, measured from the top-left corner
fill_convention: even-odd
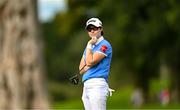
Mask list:
[[[104,54],[99,52],[93,53],[91,49],[87,48],[86,50],[86,65],[92,67],[99,63],[105,57]]]

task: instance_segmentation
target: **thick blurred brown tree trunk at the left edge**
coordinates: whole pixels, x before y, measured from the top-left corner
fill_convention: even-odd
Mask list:
[[[0,109],[49,107],[36,2],[0,2]]]

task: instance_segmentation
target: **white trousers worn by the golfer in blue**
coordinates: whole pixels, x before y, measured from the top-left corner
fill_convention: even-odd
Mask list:
[[[82,101],[85,110],[106,110],[109,86],[104,78],[92,78],[84,82]]]

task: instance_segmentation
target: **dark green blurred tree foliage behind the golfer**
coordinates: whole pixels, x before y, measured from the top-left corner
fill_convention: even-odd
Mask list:
[[[68,11],[43,24],[48,77],[67,83],[78,72],[88,41],[86,20],[99,17],[113,47],[110,84],[131,82],[148,94],[149,83],[167,64],[180,70],[180,3],[178,0],[68,0]],[[122,82],[123,81],[123,82]],[[174,83],[173,83],[174,84]],[[178,85],[178,84],[176,84]]]

